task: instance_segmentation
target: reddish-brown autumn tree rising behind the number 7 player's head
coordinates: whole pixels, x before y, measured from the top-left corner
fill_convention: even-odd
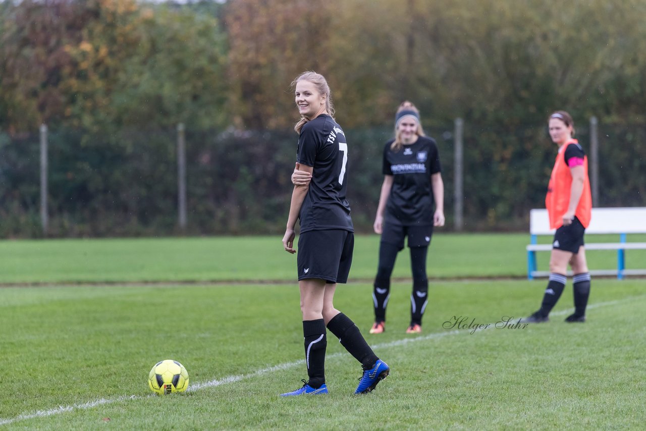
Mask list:
[[[337,0],[227,2],[231,110],[251,129],[287,127],[295,118],[289,83],[300,72],[329,72],[329,27]],[[334,79],[330,79],[334,90]]]

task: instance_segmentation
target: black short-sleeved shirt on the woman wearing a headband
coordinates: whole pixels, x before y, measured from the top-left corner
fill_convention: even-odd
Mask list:
[[[390,140],[384,147],[384,175],[393,176],[384,222],[399,226],[433,224],[431,175],[441,172],[437,144],[433,138],[419,136],[415,143],[393,152]]]

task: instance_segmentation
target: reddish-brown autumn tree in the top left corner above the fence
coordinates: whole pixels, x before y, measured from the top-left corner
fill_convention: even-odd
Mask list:
[[[65,117],[60,88],[74,60],[66,47],[81,41],[90,14],[74,0],[25,0],[3,5],[0,34],[0,78],[6,107],[3,126],[36,129]]]

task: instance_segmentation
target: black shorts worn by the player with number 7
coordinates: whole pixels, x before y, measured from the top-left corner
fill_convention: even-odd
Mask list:
[[[298,235],[298,280],[348,282],[355,234],[341,229],[307,231]]]

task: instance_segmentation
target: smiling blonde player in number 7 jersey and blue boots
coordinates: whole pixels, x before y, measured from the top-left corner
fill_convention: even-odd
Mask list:
[[[390,373],[390,367],[372,351],[359,328],[334,307],[337,283],[345,283],[352,263],[354,227],[346,200],[348,142],[339,123],[326,79],[304,72],[293,83],[301,119],[298,132],[297,167],[309,178],[295,185],[282,239],[288,253],[296,253],[298,236],[298,287],[303,315],[307,381],[293,395],[328,394],[325,379],[326,327],[362,365],[355,394],[365,394]]]

